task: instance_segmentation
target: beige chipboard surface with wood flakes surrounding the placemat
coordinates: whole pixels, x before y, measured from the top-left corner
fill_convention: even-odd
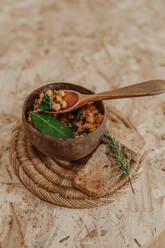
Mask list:
[[[137,248],[165,228],[165,96],[115,100],[149,150],[136,194],[71,210],[28,192],[8,160],[11,127],[40,81],[101,91],[165,78],[164,0],[0,1],[1,248]],[[162,246],[163,247],[163,246]]]

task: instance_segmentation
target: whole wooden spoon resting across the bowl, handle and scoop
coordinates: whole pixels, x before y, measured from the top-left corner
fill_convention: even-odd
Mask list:
[[[63,114],[74,111],[90,101],[112,100],[129,97],[158,95],[165,92],[165,80],[149,80],[138,84],[108,90],[97,94],[80,94],[74,90],[65,90],[64,100],[68,107],[59,111],[45,111],[46,113]]]

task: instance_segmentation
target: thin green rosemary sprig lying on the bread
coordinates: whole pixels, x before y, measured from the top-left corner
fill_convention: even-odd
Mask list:
[[[135,191],[133,189],[133,185],[131,182],[131,178],[130,178],[130,163],[131,163],[131,156],[129,158],[129,160],[127,161],[125,158],[125,154],[121,151],[121,147],[120,147],[120,143],[118,143],[115,139],[115,137],[112,136],[111,132],[108,131],[108,129],[106,129],[106,133],[105,133],[106,137],[108,138],[109,142],[108,145],[110,146],[110,148],[113,151],[113,155],[114,158],[116,160],[116,165],[118,166],[118,169],[120,171],[120,173],[115,177],[120,177],[122,175],[125,175],[128,177],[129,183],[131,185],[131,189],[132,192],[135,194]]]

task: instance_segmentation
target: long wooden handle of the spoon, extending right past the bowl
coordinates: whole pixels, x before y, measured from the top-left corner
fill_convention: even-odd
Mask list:
[[[158,95],[165,92],[165,80],[150,80],[90,95],[91,101]]]

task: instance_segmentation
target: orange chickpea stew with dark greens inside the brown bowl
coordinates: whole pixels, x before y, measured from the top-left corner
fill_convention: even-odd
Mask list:
[[[64,100],[64,97],[64,90],[47,90],[42,92],[35,100],[33,109],[28,114],[28,121],[32,123],[31,112],[41,113],[42,110],[59,111],[67,108],[67,102]],[[43,106],[46,106],[47,109],[43,109]],[[103,120],[103,114],[99,112],[94,102],[89,102],[73,112],[51,115],[55,120],[66,124],[73,131],[75,138],[80,138],[93,132]]]

